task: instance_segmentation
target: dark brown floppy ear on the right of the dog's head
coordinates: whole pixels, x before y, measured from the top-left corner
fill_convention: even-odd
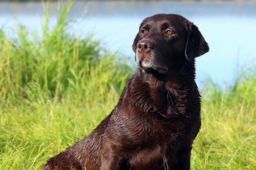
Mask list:
[[[186,59],[192,61],[195,57],[199,57],[208,51],[209,46],[198,27],[191,23],[185,48]]]

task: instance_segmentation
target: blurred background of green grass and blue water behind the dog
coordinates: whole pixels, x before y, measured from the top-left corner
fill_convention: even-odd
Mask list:
[[[137,68],[141,21],[180,14],[196,58],[192,170],[256,170],[256,1],[0,1],[0,170],[38,170],[111,113]]]

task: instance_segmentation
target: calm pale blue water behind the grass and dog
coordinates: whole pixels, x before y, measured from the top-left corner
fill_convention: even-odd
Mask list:
[[[51,5],[50,26],[56,22],[57,3]],[[197,83],[212,77],[223,87],[234,81],[242,66],[256,64],[256,3],[170,3],[170,2],[76,2],[68,17],[76,18],[70,28],[77,36],[94,38],[111,52],[129,56],[143,18],[157,13],[180,14],[198,26],[210,51],[196,59]],[[17,21],[41,34],[41,3],[0,3],[0,28],[11,34]]]

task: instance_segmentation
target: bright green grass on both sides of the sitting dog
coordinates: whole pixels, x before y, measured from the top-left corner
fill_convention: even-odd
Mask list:
[[[79,39],[60,14],[43,36],[17,28],[0,31],[0,170],[38,170],[87,136],[116,105],[134,68]],[[119,57],[120,58],[120,57]],[[207,80],[202,127],[192,150],[192,170],[256,169],[256,69],[239,72],[221,89]]]

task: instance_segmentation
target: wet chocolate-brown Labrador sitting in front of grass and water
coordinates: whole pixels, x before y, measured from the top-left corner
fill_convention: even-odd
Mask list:
[[[138,69],[113,111],[43,170],[189,170],[201,128],[195,57],[209,51],[198,27],[177,14],[140,24],[132,45]]]

